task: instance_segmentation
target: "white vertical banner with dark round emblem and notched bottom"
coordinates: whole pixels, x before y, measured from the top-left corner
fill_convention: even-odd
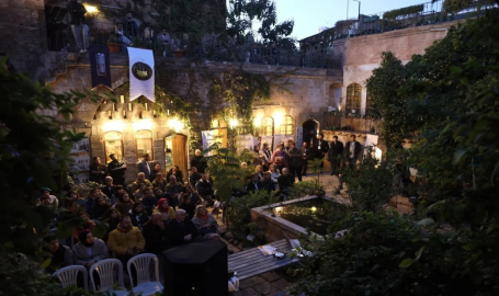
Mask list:
[[[129,100],[140,95],[155,101],[155,57],[152,50],[128,47]]]

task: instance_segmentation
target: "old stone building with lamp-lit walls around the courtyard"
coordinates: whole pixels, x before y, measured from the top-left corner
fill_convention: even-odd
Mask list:
[[[55,92],[84,91],[91,88],[90,65],[86,55],[49,50],[45,11],[46,1],[0,0],[0,53],[10,56],[18,71],[33,81],[52,86]],[[326,139],[339,135],[345,141],[350,134],[360,135],[363,144],[368,133],[376,133],[378,123],[368,118],[368,90],[365,80],[379,66],[381,54],[393,52],[402,61],[445,36],[457,22],[407,27],[402,30],[337,39],[336,54],[343,57],[341,67],[320,69],[296,66],[256,65],[250,62],[192,62],[171,61],[179,71],[220,73],[228,67],[261,73],[268,79],[280,76],[275,82],[286,84],[286,91],[272,88],[271,99],[253,106],[253,125],[258,136],[265,140],[307,141],[311,134],[325,132]],[[156,59],[162,59],[156,56]],[[189,66],[185,66],[189,65]],[[128,163],[127,180],[136,177],[136,166],[143,152],[149,152],[162,168],[189,168],[190,127],[174,116],[159,116],[155,104],[146,99],[131,103],[127,99],[128,60],[124,54],[111,57],[112,90],[97,88],[102,99],[84,99],[77,107],[67,127],[84,132],[90,139],[90,156],[109,160],[115,152]],[[175,88],[184,91],[189,76],[179,76]],[[200,98],[206,106],[208,81],[196,76]],[[113,102],[111,99],[115,98]],[[331,115],[344,112],[342,116]],[[173,112],[172,112],[173,113]],[[57,114],[54,114],[55,116]],[[367,115],[367,116],[366,116]],[[203,112],[200,113],[203,116]],[[228,123],[213,128],[229,128]],[[349,127],[345,130],[344,127]],[[201,147],[200,147],[201,148]]]

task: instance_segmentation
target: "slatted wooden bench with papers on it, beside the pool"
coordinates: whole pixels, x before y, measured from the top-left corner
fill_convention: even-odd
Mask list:
[[[286,257],[284,259],[275,259],[273,255],[263,255],[258,248],[252,248],[242,252],[229,254],[229,270],[237,272],[237,278],[245,280],[286,266],[299,260],[298,257],[293,259],[287,257],[287,253],[292,248],[286,239],[277,240],[269,244],[276,248],[277,252],[285,253]]]

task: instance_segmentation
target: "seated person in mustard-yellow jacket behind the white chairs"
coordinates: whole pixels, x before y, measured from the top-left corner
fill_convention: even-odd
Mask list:
[[[131,258],[143,252],[146,241],[140,230],[132,225],[131,218],[122,216],[116,229],[110,234],[107,246],[113,252],[113,257],[122,261],[123,266],[126,266]]]

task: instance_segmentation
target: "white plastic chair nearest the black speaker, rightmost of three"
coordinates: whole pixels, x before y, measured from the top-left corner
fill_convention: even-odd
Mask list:
[[[150,281],[149,263],[154,260],[155,262],[155,278],[156,282]],[[132,264],[137,271],[137,283],[134,285],[134,277],[132,276]],[[163,285],[159,282],[159,262],[155,254],[139,254],[128,260],[127,264],[128,275],[131,277],[132,291],[135,294],[143,296],[155,295],[157,292],[163,291]]]

